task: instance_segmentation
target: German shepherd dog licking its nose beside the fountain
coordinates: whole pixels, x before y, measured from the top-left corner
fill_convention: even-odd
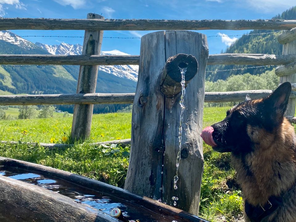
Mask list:
[[[231,152],[245,221],[296,222],[296,135],[284,117],[290,92],[286,82],[267,98],[247,96],[201,134],[214,150]]]

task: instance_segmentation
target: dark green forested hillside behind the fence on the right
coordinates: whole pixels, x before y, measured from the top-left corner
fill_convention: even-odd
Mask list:
[[[296,19],[296,6],[284,11],[282,14],[278,14],[272,19]],[[262,34],[268,32],[276,32],[280,30],[254,30],[249,34],[243,35],[233,45],[227,48],[224,53],[258,53],[258,54],[282,54],[282,45],[278,43],[277,36],[280,33]],[[207,67],[207,71],[234,69],[252,67],[252,65],[210,65]],[[243,70],[232,70],[223,72],[207,72],[206,79],[216,81],[219,79],[225,80],[228,76],[238,75],[244,73],[250,73],[252,75],[261,74],[267,70],[272,70],[274,66],[262,67],[262,68],[249,68]]]

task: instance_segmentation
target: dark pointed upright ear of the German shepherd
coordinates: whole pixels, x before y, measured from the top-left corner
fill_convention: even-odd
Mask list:
[[[266,108],[270,109],[270,112],[273,114],[276,114],[277,118],[284,116],[291,90],[291,84],[289,82],[285,82],[276,88],[276,90],[274,90],[274,92],[264,100]]]

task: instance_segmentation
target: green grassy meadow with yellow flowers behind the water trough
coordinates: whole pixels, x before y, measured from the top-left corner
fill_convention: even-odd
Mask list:
[[[222,120],[229,107],[204,108],[204,126]],[[1,120],[0,140],[19,141],[17,145],[0,144],[0,156],[35,162],[77,173],[118,187],[123,187],[130,147],[91,146],[130,138],[131,113],[95,114],[90,139],[64,150],[27,146],[21,142],[68,143],[72,117],[48,119]],[[235,183],[229,154],[214,152],[204,144],[204,175],[201,187],[200,215],[210,221],[238,221],[242,197]]]

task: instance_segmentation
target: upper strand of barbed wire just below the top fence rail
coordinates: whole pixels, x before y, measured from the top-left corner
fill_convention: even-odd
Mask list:
[[[244,35],[265,35],[265,34],[273,34],[273,33],[282,33],[285,31],[275,31],[275,32],[265,32],[265,33],[249,33],[249,34],[241,34],[241,35],[210,35],[210,37],[227,37],[227,36],[244,36]],[[4,37],[57,37],[57,38],[84,38],[84,36],[68,36],[68,35],[0,35]],[[141,37],[103,37],[105,39],[141,39]]]

